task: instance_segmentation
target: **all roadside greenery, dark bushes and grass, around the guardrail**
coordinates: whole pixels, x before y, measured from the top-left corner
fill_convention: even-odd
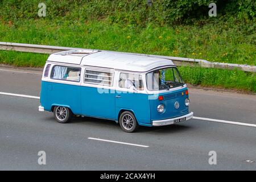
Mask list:
[[[0,2],[0,42],[105,49],[256,65],[255,1],[39,1]],[[220,9],[218,9],[220,7]],[[0,63],[43,67],[48,55],[0,51]],[[180,67],[193,85],[256,92],[255,73]]]

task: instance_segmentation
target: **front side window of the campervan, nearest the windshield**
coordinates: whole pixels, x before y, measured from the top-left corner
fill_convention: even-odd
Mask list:
[[[142,76],[133,73],[121,73],[118,85],[120,88],[135,88],[144,90]]]

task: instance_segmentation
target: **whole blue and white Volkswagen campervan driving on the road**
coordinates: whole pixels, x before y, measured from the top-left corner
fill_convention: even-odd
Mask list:
[[[171,60],[74,49],[48,57],[39,111],[57,122],[73,115],[111,119],[126,132],[193,117],[188,89]]]

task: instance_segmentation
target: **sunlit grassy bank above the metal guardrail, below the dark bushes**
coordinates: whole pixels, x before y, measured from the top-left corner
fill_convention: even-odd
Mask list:
[[[235,23],[235,22],[233,22]],[[229,26],[228,28],[225,28]],[[240,31],[241,23],[205,26],[134,27],[94,22],[27,20],[0,24],[2,42],[106,49],[156,55],[191,57],[223,63],[256,65],[256,33]]]

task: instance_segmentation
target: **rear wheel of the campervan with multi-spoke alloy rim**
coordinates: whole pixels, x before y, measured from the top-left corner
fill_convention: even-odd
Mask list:
[[[72,118],[72,112],[68,107],[55,106],[53,109],[54,118],[59,123],[67,123]]]

